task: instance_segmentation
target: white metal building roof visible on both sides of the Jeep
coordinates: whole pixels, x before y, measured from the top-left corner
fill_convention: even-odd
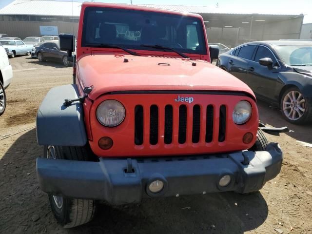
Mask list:
[[[78,17],[82,2],[77,1],[56,1],[56,0],[15,0],[4,8],[0,9],[1,15],[47,15],[47,16],[72,16]],[[212,6],[181,6],[181,5],[155,5],[136,4],[138,6],[155,7],[166,10],[199,14],[261,14],[261,15],[281,15],[274,11],[270,12],[247,12],[245,8],[237,7],[224,8]],[[285,12],[285,11],[284,11]],[[300,13],[285,12],[283,15],[300,15]]]

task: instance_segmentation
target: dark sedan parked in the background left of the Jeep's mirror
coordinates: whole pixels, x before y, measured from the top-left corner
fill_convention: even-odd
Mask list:
[[[57,42],[44,42],[36,46],[34,54],[39,62],[45,60],[61,61],[64,66],[68,67],[71,63],[67,60],[66,51],[59,50],[59,43]]]

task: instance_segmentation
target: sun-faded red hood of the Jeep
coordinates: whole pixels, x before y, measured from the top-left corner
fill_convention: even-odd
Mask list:
[[[104,93],[132,90],[221,90],[254,96],[245,83],[205,61],[95,54],[77,64],[83,86],[94,87],[89,94],[93,100]]]

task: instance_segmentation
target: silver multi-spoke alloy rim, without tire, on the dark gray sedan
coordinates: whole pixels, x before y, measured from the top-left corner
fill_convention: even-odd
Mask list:
[[[306,111],[306,100],[296,90],[287,93],[283,99],[283,112],[290,120],[298,120]]]

